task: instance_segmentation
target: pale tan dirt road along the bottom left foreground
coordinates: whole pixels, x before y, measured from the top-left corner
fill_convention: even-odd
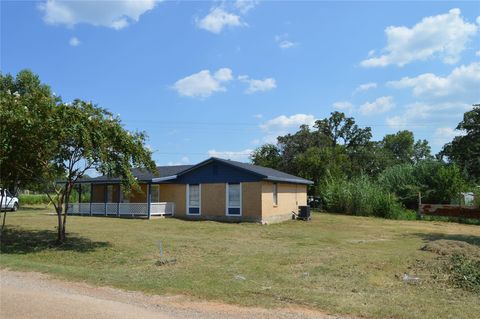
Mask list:
[[[0,318],[342,319],[304,308],[247,308],[185,296],[150,296],[9,270],[0,270]]]

